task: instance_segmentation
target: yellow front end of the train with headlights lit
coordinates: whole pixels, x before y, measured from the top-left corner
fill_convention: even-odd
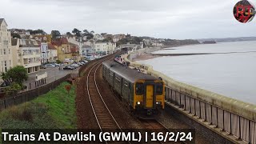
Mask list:
[[[134,83],[134,110],[142,118],[154,117],[164,109],[165,90],[160,80]]]

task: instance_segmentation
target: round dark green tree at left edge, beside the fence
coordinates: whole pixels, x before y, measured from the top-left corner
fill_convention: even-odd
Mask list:
[[[28,74],[23,66],[15,66],[7,70],[6,73],[2,73],[1,77],[6,83],[17,83],[23,87],[23,82],[27,80]]]

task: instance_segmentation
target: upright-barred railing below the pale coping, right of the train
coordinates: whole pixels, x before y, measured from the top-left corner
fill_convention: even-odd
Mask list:
[[[256,144],[256,122],[166,86],[166,102],[201,118],[209,125],[234,135],[239,141]]]

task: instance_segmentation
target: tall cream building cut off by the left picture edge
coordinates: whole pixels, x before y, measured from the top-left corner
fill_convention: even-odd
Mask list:
[[[0,72],[6,72],[13,66],[11,36],[7,26],[6,20],[0,18]]]

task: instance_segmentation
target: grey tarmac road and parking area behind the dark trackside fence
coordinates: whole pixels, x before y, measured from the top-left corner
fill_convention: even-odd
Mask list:
[[[41,69],[38,72],[29,74],[29,78],[27,79],[24,84],[27,86],[27,90],[35,89],[38,86],[35,86],[35,76],[36,74],[41,75],[45,74],[47,72],[47,78],[46,78],[46,84],[50,82],[54,82],[60,78],[63,78],[66,76],[66,74],[78,74],[79,68],[75,70],[63,70],[64,66],[61,66],[61,70],[59,70],[59,67],[53,67],[53,68],[46,68]],[[41,85],[42,86],[42,85]]]

